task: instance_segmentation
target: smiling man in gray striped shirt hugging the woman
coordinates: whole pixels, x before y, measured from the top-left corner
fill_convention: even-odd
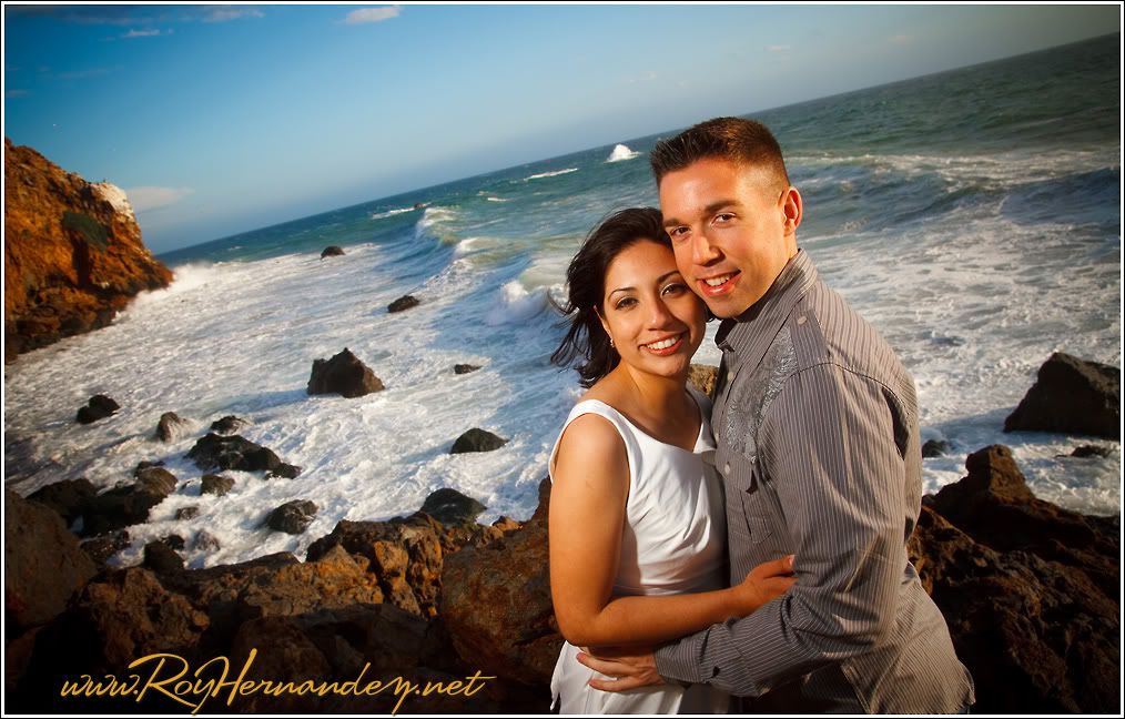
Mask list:
[[[651,154],[676,264],[723,318],[712,426],[731,582],[793,554],[749,617],[641,656],[590,656],[623,691],[706,683],[744,711],[945,713],[973,703],[906,552],[921,500],[914,380],[796,246],[801,195],[776,140],[717,118]]]

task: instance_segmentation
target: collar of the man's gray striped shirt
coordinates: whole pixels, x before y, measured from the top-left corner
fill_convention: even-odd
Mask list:
[[[798,250],[782,268],[766,294],[737,317],[723,320],[714,335],[720,350],[734,350],[735,362],[756,366],[785,324],[798,300],[817,281],[809,253]]]

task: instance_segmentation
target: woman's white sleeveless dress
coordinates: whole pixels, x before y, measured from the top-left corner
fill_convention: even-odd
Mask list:
[[[694,388],[702,422],[694,451],[660,442],[620,412],[597,399],[579,402],[562,432],[584,414],[609,420],[624,440],[629,459],[629,498],[621,537],[621,558],[613,595],[683,594],[719,590],[726,584],[727,528],[722,485],[716,473],[714,440],[708,417],[711,402]],[[555,465],[555,441],[548,467]],[[554,475],[552,475],[554,480]],[[609,678],[575,658],[564,642],[551,677],[551,709],[561,698],[562,714],[726,713],[729,695],[705,684],[645,686],[627,692],[591,687],[591,678]]]

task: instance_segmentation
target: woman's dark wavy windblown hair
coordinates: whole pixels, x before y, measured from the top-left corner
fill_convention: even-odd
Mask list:
[[[570,260],[566,271],[567,298],[559,305],[551,303],[562,313],[566,336],[551,354],[551,362],[566,368],[575,365],[578,384],[590,388],[610,374],[621,361],[618,351],[610,347],[597,313],[602,311],[605,296],[605,271],[622,250],[642,240],[663,244],[672,249],[672,240],[664,231],[660,210],[652,207],[630,207],[614,213],[594,227],[578,254]]]

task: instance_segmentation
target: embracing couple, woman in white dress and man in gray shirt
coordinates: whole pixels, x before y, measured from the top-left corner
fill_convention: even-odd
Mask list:
[[[817,277],[776,140],[718,118],[651,153],[660,209],[574,258],[552,356],[587,389],[550,458],[561,713],[956,713],[907,558],[914,380]],[[686,386],[722,320],[714,405]]]

